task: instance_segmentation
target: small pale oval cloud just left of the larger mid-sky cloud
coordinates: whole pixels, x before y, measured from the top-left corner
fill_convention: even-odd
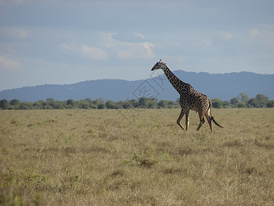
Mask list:
[[[88,47],[87,45],[81,46],[82,53],[92,59],[92,60],[106,60],[108,59],[108,54],[97,47]]]

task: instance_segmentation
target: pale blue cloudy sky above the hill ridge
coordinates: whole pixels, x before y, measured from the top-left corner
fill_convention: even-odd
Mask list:
[[[0,91],[146,79],[160,58],[171,70],[274,73],[273,11],[273,0],[0,0]]]

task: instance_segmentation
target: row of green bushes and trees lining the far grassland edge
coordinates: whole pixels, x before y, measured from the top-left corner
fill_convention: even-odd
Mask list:
[[[241,101],[239,101],[239,99]],[[247,101],[247,95],[240,93],[238,98],[232,98],[230,101],[222,101],[218,98],[211,100],[212,107],[214,108],[252,108],[252,107],[274,107],[274,100],[269,100],[266,95],[258,94],[255,98],[251,98]],[[120,108],[180,108],[179,98],[173,102],[171,100],[160,100],[158,102],[155,98],[142,97],[138,100],[125,100],[114,102],[112,100],[103,100],[99,98],[97,100],[91,100],[86,98],[85,100],[66,100],[66,101],[55,101],[53,98],[47,98],[46,101],[39,100],[37,102],[20,102],[19,100],[0,100],[0,109],[63,109],[63,108],[110,108],[110,109],[120,109]]]

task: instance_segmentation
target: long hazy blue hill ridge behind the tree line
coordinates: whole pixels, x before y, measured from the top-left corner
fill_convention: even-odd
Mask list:
[[[210,74],[187,71],[173,71],[173,73],[192,87],[208,95],[208,98],[230,100],[242,92],[255,97],[262,93],[274,99],[274,75],[262,75],[251,72]],[[162,74],[162,75],[158,75]],[[76,84],[45,84],[36,87],[23,87],[0,91],[0,100],[21,100],[35,102],[38,100],[83,100],[103,98],[105,100],[137,99],[142,96],[157,98],[158,100],[176,100],[179,94],[171,86],[169,80],[162,73],[151,73],[147,80],[90,80]]]

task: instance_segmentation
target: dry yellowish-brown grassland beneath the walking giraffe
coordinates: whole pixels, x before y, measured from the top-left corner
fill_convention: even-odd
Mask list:
[[[0,111],[2,205],[273,205],[274,109]],[[182,121],[184,123],[184,119]]]

